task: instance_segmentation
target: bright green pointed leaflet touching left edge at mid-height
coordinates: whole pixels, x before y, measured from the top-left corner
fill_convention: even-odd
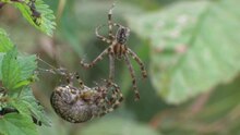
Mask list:
[[[2,60],[2,84],[7,89],[13,89],[21,81],[21,68],[17,62],[16,48],[9,51]]]

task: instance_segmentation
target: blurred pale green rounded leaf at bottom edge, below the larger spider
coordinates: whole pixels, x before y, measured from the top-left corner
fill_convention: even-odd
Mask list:
[[[120,118],[107,118],[81,130],[81,135],[160,135],[149,126]]]

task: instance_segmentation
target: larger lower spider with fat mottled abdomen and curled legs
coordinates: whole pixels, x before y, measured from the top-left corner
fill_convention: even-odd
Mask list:
[[[67,73],[65,70],[55,69],[51,73],[64,75],[65,85],[55,88],[50,97],[50,103],[56,113],[71,123],[86,122],[96,116],[103,116],[119,107],[123,96],[119,86],[103,79],[103,84],[96,83],[95,87],[84,85],[77,73]],[[79,87],[73,86],[74,78]]]

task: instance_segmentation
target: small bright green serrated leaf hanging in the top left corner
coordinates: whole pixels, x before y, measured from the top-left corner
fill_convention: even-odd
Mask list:
[[[56,27],[55,15],[52,10],[50,10],[49,7],[43,0],[36,0],[36,11],[40,13],[40,17],[36,19],[36,22],[39,24],[36,24],[36,22],[34,21],[35,19],[32,15],[32,11],[27,5],[28,2],[29,0],[26,0],[22,3],[14,2],[14,4],[32,25],[34,25],[36,28],[40,29],[45,34],[51,36]]]

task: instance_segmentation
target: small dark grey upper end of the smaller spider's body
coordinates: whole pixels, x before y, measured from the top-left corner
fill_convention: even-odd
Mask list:
[[[117,41],[121,45],[124,45],[129,38],[130,29],[128,27],[119,27],[117,32]]]

